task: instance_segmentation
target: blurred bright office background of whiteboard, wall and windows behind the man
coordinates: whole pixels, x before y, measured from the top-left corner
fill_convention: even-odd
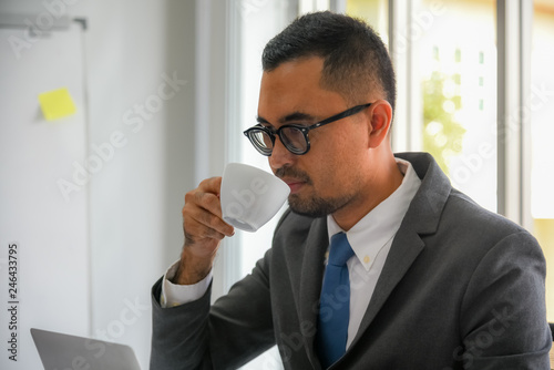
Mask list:
[[[129,345],[148,368],[150,288],[179,256],[184,194],[228,162],[269,169],[242,134],[261,50],[326,9],[389,47],[394,151],[433,154],[554,266],[554,0],[1,0],[0,296],[18,328],[0,310],[0,338],[17,331],[19,347],[0,368],[40,367],[33,327]],[[275,223],[225,240],[214,299]],[[278,351],[245,369],[281,369]]]

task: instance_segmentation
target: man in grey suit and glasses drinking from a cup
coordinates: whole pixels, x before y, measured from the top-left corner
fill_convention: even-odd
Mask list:
[[[290,186],[290,209],[252,275],[211,307],[214,256],[234,229],[219,177],[186,195],[181,260],[153,288],[152,368],[234,369],[276,343],[286,369],[548,369],[540,246],[453,189],[430,155],[393,155],[379,37],[308,14],[263,66],[245,134]]]

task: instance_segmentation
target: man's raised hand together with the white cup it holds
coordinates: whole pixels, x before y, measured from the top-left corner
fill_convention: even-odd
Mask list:
[[[275,216],[289,193],[288,185],[273,174],[238,163],[225,167],[223,179],[203,181],[185,195],[185,246],[173,281],[189,285],[202,280],[220,240],[234,235],[234,227],[257,230]]]

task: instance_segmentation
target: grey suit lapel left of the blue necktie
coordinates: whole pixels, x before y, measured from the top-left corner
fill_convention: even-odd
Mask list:
[[[305,255],[300,275],[300,329],[310,362],[319,363],[314,350],[314,338],[317,330],[319,295],[321,291],[325,253],[329,246],[327,218],[317,218],[310,227],[306,239]]]

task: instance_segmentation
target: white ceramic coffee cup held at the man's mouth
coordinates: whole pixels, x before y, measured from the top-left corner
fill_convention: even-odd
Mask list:
[[[223,219],[245,232],[256,232],[280,209],[290,188],[275,175],[242,163],[223,172]]]

